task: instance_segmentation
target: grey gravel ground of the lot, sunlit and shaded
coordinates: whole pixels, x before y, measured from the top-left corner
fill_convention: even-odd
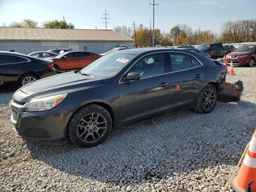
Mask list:
[[[10,109],[0,106],[0,191],[219,192],[256,127],[256,67],[234,70],[226,81],[243,81],[242,101],[116,128],[89,149],[24,142],[14,136]],[[0,92],[0,103],[13,92]]]

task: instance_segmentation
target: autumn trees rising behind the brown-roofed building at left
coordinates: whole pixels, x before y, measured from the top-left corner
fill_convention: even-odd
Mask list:
[[[7,26],[6,23],[2,23],[2,26]],[[9,27],[26,27],[26,28],[39,28],[38,22],[31,19],[24,19],[22,22],[10,22]],[[41,24],[42,28],[51,28],[51,29],[74,29],[75,26],[72,23],[67,23],[64,20],[48,20]]]

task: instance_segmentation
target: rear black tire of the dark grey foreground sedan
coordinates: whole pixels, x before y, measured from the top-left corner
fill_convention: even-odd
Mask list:
[[[210,101],[210,100],[205,99],[205,96],[207,95],[208,90],[212,90],[212,95],[214,94],[214,99],[212,97],[210,97],[210,98],[211,98],[211,100],[214,100],[214,101]],[[218,95],[217,95],[216,88],[212,84],[207,84],[199,92],[197,100],[196,100],[196,104],[193,107],[193,109],[194,109],[195,112],[198,112],[198,113],[202,113],[202,114],[209,113],[216,106],[217,100],[218,100]],[[204,105],[206,105],[206,106],[204,106]]]

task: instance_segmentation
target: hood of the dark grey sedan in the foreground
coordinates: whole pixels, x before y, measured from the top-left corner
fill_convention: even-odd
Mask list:
[[[72,71],[32,82],[17,91],[22,91],[34,98],[41,98],[88,89],[102,84],[104,84],[104,78],[84,76]]]

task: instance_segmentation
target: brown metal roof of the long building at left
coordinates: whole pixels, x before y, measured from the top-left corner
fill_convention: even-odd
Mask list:
[[[26,41],[133,41],[113,30],[0,27],[0,40]]]

